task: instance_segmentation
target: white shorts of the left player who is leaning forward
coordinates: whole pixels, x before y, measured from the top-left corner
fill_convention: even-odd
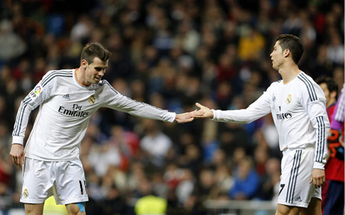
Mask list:
[[[20,202],[41,204],[51,195],[56,204],[89,200],[80,159],[39,161],[25,157]]]

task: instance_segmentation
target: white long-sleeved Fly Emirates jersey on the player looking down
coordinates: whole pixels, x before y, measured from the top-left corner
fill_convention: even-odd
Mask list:
[[[92,113],[101,107],[161,121],[175,120],[175,113],[125,97],[106,80],[98,85],[81,85],[75,71],[49,71],[20,104],[13,143],[22,145],[30,112],[40,105],[25,156],[44,161],[78,159]]]

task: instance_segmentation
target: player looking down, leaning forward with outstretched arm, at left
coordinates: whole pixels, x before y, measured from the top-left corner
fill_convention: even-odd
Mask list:
[[[82,50],[80,68],[49,71],[21,102],[10,155],[16,165],[23,164],[20,202],[25,204],[26,214],[42,214],[44,201],[51,195],[57,204],[65,204],[69,215],[85,214],[88,197],[79,159],[80,142],[97,109],[108,107],[160,121],[193,120],[192,113],[176,114],[136,102],[101,80],[110,56],[101,44],[87,44]],[[30,112],[39,105],[24,149]]]

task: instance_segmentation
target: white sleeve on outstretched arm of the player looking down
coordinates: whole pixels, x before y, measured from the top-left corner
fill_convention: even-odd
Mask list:
[[[106,80],[104,80],[104,85],[106,87],[106,94],[108,95],[106,102],[108,108],[130,113],[133,116],[168,121],[170,123],[175,120],[176,113],[158,109],[156,106],[151,106],[144,102],[137,102],[129,97],[125,97],[116,91]]]

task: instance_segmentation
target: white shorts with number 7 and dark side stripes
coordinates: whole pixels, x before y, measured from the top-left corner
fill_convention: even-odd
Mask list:
[[[321,188],[309,183],[315,149],[294,149],[283,154],[278,204],[307,208],[312,197],[321,199]]]

